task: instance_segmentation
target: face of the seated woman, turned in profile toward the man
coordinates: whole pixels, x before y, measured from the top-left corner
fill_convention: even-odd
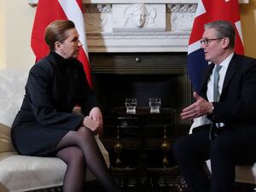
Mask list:
[[[75,28],[68,29],[66,32],[67,38],[61,44],[61,55],[65,59],[78,58],[79,50],[83,44],[79,41],[79,33]]]

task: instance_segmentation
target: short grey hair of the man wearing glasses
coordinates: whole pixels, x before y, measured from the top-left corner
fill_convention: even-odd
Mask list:
[[[236,31],[234,26],[227,20],[216,20],[213,22],[209,22],[205,24],[206,29],[215,29],[217,31],[217,38],[230,38],[229,47],[234,49],[235,47],[235,39],[236,39]]]

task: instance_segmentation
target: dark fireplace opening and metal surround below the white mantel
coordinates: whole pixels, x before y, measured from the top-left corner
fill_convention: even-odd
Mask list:
[[[120,158],[123,166],[137,166],[140,159],[140,146],[147,148],[146,164],[151,167],[162,166],[163,151],[160,146],[166,129],[166,142],[175,142],[178,136],[189,130],[188,122],[179,117],[181,110],[191,100],[190,82],[185,71],[184,53],[93,53],[90,64],[94,90],[102,104],[104,132],[102,142],[110,154],[111,166],[116,166],[117,154],[114,146],[118,136],[122,144]],[[138,108],[148,108],[149,97],[160,97],[161,108],[172,108],[172,113],[158,117],[155,121],[139,125],[133,119],[113,114],[114,108],[125,108],[125,98],[136,97]],[[169,116],[168,116],[169,115]],[[166,121],[166,124],[165,122]],[[164,127],[163,125],[166,125]],[[125,127],[125,128],[124,128]],[[143,138],[143,139],[142,139]],[[160,154],[160,155],[154,155]],[[168,153],[170,165],[173,161]],[[131,160],[131,156],[137,156]],[[153,157],[153,158],[152,158]]]

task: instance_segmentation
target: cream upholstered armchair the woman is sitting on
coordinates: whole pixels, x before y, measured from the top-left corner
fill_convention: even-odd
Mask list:
[[[19,155],[10,140],[10,126],[20,109],[27,74],[28,69],[0,70],[0,191],[59,191],[66,164],[54,157]],[[109,166],[108,152],[98,136],[96,142]],[[87,170],[86,181],[95,179]]]

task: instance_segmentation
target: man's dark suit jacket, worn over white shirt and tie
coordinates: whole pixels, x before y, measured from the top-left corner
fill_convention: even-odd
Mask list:
[[[214,65],[207,66],[201,84],[200,96],[207,99],[207,82]],[[219,102],[213,102],[209,119],[223,122],[226,127],[249,127],[256,134],[256,60],[234,55],[227,69]],[[249,136],[250,137],[250,136]],[[253,136],[252,136],[253,137]],[[255,138],[255,135],[254,135]]]

